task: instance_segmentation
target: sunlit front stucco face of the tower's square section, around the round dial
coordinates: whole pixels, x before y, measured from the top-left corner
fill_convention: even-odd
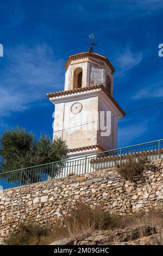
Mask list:
[[[83,108],[80,113],[73,114],[70,109],[76,102],[80,102]],[[98,96],[80,100],[74,96],[71,101],[56,104],[54,120],[53,138],[61,137],[67,142],[68,148],[96,145]]]

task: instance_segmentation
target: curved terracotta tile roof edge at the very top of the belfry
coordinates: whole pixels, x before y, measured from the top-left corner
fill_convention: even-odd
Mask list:
[[[90,57],[95,57],[95,58],[104,60],[106,62],[106,64],[108,64],[109,68],[111,69],[112,74],[115,72],[115,68],[114,68],[114,66],[111,65],[109,60],[106,57],[104,57],[101,54],[98,54],[96,52],[80,52],[80,53],[73,54],[73,55],[69,56],[66,60],[65,69],[68,68],[68,65],[70,64],[71,59],[76,59],[76,58],[80,58],[80,57],[87,57],[87,56],[88,57],[89,56]]]

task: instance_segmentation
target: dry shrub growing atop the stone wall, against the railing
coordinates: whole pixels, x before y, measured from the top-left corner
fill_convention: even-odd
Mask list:
[[[143,180],[143,170],[147,159],[145,157],[128,156],[125,162],[117,165],[117,172],[123,176],[124,179],[135,181]]]

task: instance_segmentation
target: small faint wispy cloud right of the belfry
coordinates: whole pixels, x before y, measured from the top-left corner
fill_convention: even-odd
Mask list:
[[[137,64],[139,64],[142,60],[142,53],[134,53],[131,52],[130,48],[127,47],[126,50],[121,53],[119,56],[117,56],[117,70],[118,76],[124,76],[127,74],[127,72],[134,68]]]

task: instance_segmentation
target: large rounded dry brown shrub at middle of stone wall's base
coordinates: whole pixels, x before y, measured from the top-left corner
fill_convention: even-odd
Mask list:
[[[92,230],[115,228],[120,223],[120,217],[110,215],[102,206],[91,208],[83,202],[77,202],[64,218],[64,225],[69,235],[74,238],[87,236]]]

